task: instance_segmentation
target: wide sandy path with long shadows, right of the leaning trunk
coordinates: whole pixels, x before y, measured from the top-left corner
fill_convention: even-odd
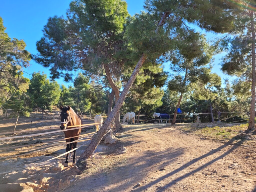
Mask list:
[[[255,154],[243,161],[243,141],[202,140],[170,125],[126,127],[119,138],[127,163],[108,174],[82,174],[63,191],[256,191]]]

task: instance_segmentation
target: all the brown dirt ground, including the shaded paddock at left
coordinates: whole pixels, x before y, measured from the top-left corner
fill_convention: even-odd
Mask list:
[[[44,129],[51,128],[53,124],[49,120],[40,121],[41,125],[35,125],[35,128],[41,129],[42,126]],[[56,120],[56,129],[58,123],[59,120]],[[8,125],[8,122],[5,124],[9,129],[6,129],[1,122],[0,130],[10,131],[11,125]],[[123,125],[124,129],[117,134],[120,139],[118,144],[107,146],[105,152],[98,150],[87,161],[86,170],[82,173],[72,166],[64,168],[63,156],[49,161],[48,164],[36,166],[38,162],[64,153],[65,145],[52,149],[46,147],[44,152],[31,153],[18,158],[0,159],[0,172],[14,169],[11,173],[1,175],[3,177],[0,179],[0,187],[7,186],[7,183],[19,183],[19,186],[26,184],[31,186],[32,189],[29,190],[35,192],[256,191],[255,135],[249,139],[237,137],[241,129],[245,129],[245,126],[239,125],[234,123]],[[235,131],[229,131],[233,129]],[[87,130],[82,134],[94,130]],[[14,140],[13,146],[30,144],[36,140],[48,142],[61,137],[63,133],[52,134],[51,137],[42,135],[32,141],[29,138],[17,139]],[[1,142],[0,149],[11,146],[10,144],[10,141]],[[37,145],[26,147],[27,151],[24,152],[31,151],[35,146]],[[115,153],[114,151],[120,147],[125,147],[127,152]],[[85,148],[86,146],[79,148],[77,158]],[[3,151],[5,150],[0,153]],[[17,148],[8,151],[10,153],[7,155],[17,154],[15,152]],[[4,155],[6,154],[0,154],[0,157]],[[24,168],[24,165],[29,167]],[[20,170],[15,171],[15,169]],[[47,181],[42,181],[41,176],[48,178]],[[31,184],[32,182],[34,184]],[[29,191],[27,188],[26,190]]]

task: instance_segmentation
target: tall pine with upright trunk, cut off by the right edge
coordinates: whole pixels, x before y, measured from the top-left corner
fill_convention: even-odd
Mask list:
[[[240,5],[240,6],[239,6]],[[255,1],[243,1],[234,4],[230,15],[235,17],[234,27],[219,42],[222,49],[228,51],[223,58],[222,71],[236,75],[239,81],[251,82],[251,104],[248,130],[254,130],[255,118]],[[237,82],[237,81],[235,81]],[[234,82],[234,83],[235,83]],[[244,83],[244,85],[247,83]],[[239,85],[238,85],[239,86]],[[244,86],[247,87],[248,86]]]

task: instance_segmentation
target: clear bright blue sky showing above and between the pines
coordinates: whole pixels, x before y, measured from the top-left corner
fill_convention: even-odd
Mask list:
[[[69,7],[71,0],[45,0],[45,1],[2,1],[1,2],[1,12],[0,16],[4,20],[4,26],[7,28],[6,32],[11,38],[23,39],[27,47],[26,49],[31,54],[37,54],[36,41],[40,40],[43,36],[42,29],[47,23],[47,19],[54,15],[61,16],[66,14],[66,10]],[[128,12],[131,15],[139,13],[143,9],[142,0],[126,0],[128,4]],[[198,29],[199,30],[199,29]],[[212,40],[216,37],[214,33],[206,33],[206,37]],[[220,58],[224,54],[219,54],[215,56],[213,72],[216,72],[222,78],[222,83],[224,78],[228,76],[220,71],[219,63]],[[165,71],[169,71],[168,63],[165,63]],[[49,70],[37,64],[33,60],[30,61],[30,66],[24,69],[25,76],[27,78],[31,77],[31,73],[44,72],[49,77]],[[63,79],[56,79],[58,83],[63,84]],[[64,83],[66,86],[72,83]]]

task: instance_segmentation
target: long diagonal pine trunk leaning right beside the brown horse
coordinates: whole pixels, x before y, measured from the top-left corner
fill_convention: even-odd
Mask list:
[[[155,30],[156,33],[158,33],[159,27],[164,24],[164,21],[168,15],[169,15],[169,12],[166,12],[163,14],[163,16],[161,17],[161,19],[157,25],[157,28]],[[135,69],[133,70],[129,81],[125,85],[118,101],[116,101],[113,110],[109,114],[108,118],[105,120],[105,123],[102,125],[101,129],[97,132],[96,136],[92,138],[89,146],[86,148],[86,150],[83,152],[83,154],[79,157],[79,159],[77,161],[78,164],[81,161],[84,161],[85,159],[89,158],[92,155],[92,153],[96,149],[97,145],[99,145],[103,135],[108,131],[109,126],[111,125],[112,121],[114,120],[115,114],[120,110],[121,106],[123,105],[124,99],[125,99],[128,91],[132,87],[132,84],[133,84],[138,72],[140,71],[140,68],[142,67],[144,61],[146,60],[146,58],[147,58],[147,56],[143,53],[141,55],[140,60],[138,61],[137,65],[136,65]]]

